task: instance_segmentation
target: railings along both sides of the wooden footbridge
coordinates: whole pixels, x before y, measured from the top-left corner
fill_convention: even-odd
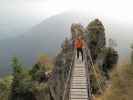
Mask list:
[[[64,87],[64,92],[63,92],[63,96],[62,96],[62,100],[69,100],[69,95],[70,95],[70,88],[71,88],[71,77],[72,77],[72,71],[73,71],[73,65],[75,62],[75,55],[76,55],[76,50],[74,50],[74,54],[72,57],[72,62],[69,68],[69,72],[68,72],[68,76],[67,76],[67,80],[65,82],[65,87]],[[86,45],[86,47],[84,48],[84,60],[85,60],[85,68],[86,68],[86,77],[87,77],[87,88],[88,88],[88,100],[93,100],[93,96],[92,96],[92,89],[91,89],[91,82],[90,82],[90,71],[93,70],[94,75],[97,77],[97,72],[91,57],[91,53],[90,50],[88,48],[88,46]],[[99,87],[99,90],[102,91],[102,87],[100,85],[100,81],[97,80],[97,84]]]

